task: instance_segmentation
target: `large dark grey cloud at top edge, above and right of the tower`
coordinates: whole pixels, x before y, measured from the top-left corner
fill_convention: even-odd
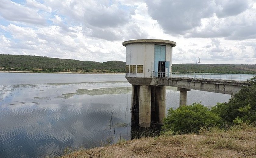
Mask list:
[[[183,34],[201,25],[202,18],[208,18],[214,13],[212,1],[195,0],[162,0],[146,1],[151,17],[158,21],[165,33]]]

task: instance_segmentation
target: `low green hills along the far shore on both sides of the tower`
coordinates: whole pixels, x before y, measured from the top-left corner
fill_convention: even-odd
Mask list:
[[[28,55],[0,54],[1,70],[43,72],[125,72],[123,61],[80,61]],[[256,74],[256,64],[172,64],[172,72]]]

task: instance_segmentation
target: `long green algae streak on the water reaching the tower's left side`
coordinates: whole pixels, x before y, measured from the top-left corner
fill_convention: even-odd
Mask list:
[[[70,98],[74,95],[111,95],[111,94],[127,94],[131,91],[131,87],[114,87],[100,89],[78,89],[74,93],[66,93],[59,96],[61,98]],[[58,97],[58,98],[59,98]]]

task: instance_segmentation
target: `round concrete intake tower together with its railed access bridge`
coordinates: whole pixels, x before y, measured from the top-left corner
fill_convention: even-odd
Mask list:
[[[250,77],[244,75],[234,79],[227,77],[228,74],[172,73],[172,48],[176,42],[170,40],[129,40],[123,46],[126,46],[125,77],[132,84],[131,122],[139,123],[140,127],[163,123],[166,86],[180,91],[180,107],[187,105],[190,89],[232,97],[243,86],[250,86],[247,81]]]

